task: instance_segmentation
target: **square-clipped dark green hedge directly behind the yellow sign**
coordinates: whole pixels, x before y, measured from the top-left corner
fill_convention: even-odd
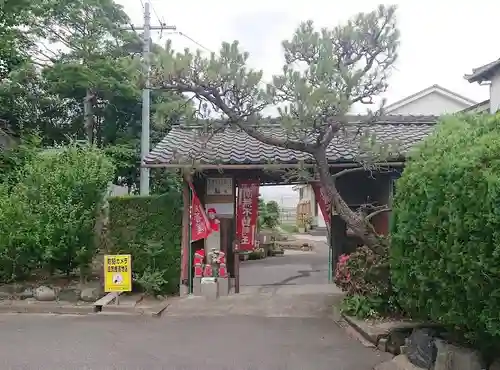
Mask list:
[[[107,249],[132,255],[134,289],[178,293],[181,223],[182,198],[177,192],[109,199]]]

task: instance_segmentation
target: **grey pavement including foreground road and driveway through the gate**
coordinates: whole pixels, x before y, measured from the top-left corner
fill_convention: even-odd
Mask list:
[[[327,257],[317,249],[245,263],[240,295],[172,300],[161,318],[0,315],[0,369],[372,369],[388,356],[330,317],[341,294],[323,284]]]

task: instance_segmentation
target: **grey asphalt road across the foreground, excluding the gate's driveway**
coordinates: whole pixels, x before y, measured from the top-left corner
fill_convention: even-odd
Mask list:
[[[387,359],[316,318],[0,316],[2,370],[369,370]]]

